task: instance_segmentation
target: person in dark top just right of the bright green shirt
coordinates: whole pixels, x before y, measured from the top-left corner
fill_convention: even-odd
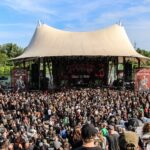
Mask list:
[[[108,126],[109,134],[106,136],[108,141],[108,150],[120,150],[119,148],[119,134],[115,131],[113,125]]]

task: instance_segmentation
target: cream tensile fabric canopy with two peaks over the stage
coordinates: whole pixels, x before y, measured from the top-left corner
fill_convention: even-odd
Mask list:
[[[40,24],[23,54],[14,59],[52,56],[126,56],[148,59],[135,51],[124,27],[118,24],[92,32],[69,32]]]

